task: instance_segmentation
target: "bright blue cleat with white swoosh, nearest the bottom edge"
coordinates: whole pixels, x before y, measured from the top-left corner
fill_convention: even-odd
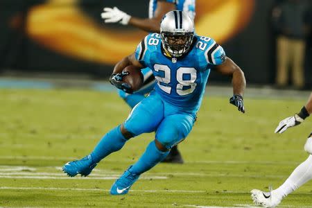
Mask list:
[[[140,175],[132,174],[129,170],[132,166],[128,168],[121,177],[119,177],[116,182],[112,185],[112,188],[110,189],[110,194],[112,195],[121,195],[128,193],[130,187],[132,184],[134,184]]]

